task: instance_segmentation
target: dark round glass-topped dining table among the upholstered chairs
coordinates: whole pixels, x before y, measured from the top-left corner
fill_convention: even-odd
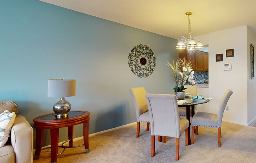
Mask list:
[[[195,105],[200,105],[203,103],[207,103],[210,100],[192,100],[191,98],[185,98],[184,100],[186,100],[187,102],[179,105],[179,107],[186,107],[186,115],[187,115],[187,120],[189,122],[189,126],[188,126],[188,145],[191,145],[191,139],[190,139],[190,115],[193,118],[193,116],[195,115]],[[191,113],[190,113],[191,110]]]

